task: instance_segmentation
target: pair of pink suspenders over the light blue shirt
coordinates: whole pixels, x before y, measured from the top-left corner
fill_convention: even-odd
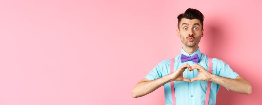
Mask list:
[[[175,58],[172,58],[170,61],[170,74],[173,73],[174,71],[174,62],[175,62]],[[208,58],[208,71],[212,73],[212,58]],[[174,81],[171,81],[170,85],[171,85],[171,94],[172,94],[173,105],[175,105],[176,97],[175,97]],[[210,87],[211,87],[211,81],[207,81],[207,93],[206,93],[205,105],[208,105]]]

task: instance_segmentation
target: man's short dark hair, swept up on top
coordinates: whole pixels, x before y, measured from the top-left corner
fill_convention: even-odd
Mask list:
[[[188,8],[185,13],[181,13],[180,15],[177,16],[178,22],[177,22],[177,28],[179,29],[179,25],[181,22],[182,18],[186,18],[186,19],[198,19],[202,25],[202,29],[203,29],[203,22],[204,22],[204,15],[196,9],[193,8]]]

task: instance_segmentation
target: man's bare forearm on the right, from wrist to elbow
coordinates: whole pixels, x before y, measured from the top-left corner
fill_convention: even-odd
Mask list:
[[[219,85],[224,86],[234,92],[250,95],[252,93],[252,87],[245,79],[231,79],[222,76],[212,74],[210,79],[212,82],[216,82]]]

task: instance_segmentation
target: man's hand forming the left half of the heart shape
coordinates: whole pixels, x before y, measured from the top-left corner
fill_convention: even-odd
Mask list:
[[[187,81],[191,82],[190,79],[183,77],[183,72],[188,68],[189,71],[192,71],[189,64],[184,64],[181,67],[179,67],[175,72],[171,73],[172,81]]]

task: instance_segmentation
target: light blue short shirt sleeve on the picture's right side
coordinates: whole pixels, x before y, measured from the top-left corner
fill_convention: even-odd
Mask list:
[[[227,77],[227,78],[231,78],[231,79],[235,79],[237,76],[239,76],[236,72],[234,72],[227,63],[225,63],[224,61],[220,60],[219,61],[219,76],[222,77]],[[219,88],[219,84],[218,84],[218,88]],[[226,88],[228,91],[229,89]]]

